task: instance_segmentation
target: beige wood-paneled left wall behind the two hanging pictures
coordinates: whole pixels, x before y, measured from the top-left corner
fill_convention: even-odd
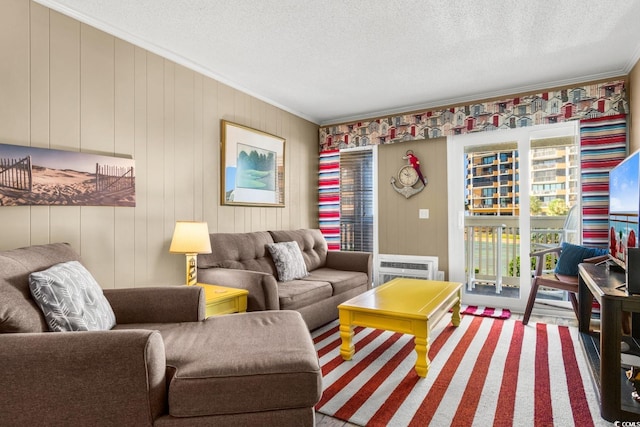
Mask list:
[[[318,126],[29,0],[0,4],[0,143],[132,156],[136,207],[0,207],[0,249],[66,241],[104,288],[184,282],[176,220],[317,227]],[[284,208],[220,205],[220,120],[286,139]]]

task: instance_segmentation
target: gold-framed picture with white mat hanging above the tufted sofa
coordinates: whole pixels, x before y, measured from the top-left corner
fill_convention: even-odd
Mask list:
[[[221,203],[284,206],[283,138],[222,120]]]

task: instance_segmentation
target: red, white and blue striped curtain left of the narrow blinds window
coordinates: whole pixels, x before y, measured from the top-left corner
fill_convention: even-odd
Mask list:
[[[320,153],[319,225],[330,251],[340,250],[340,150]]]

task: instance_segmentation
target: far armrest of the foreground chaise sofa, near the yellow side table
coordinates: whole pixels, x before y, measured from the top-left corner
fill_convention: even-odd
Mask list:
[[[116,323],[176,323],[205,319],[200,286],[105,289]]]

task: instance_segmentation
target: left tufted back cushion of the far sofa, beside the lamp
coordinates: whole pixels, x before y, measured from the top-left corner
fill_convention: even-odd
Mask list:
[[[198,255],[198,268],[235,268],[275,276],[276,268],[267,249],[273,239],[267,231],[212,233],[209,238],[211,253]]]

